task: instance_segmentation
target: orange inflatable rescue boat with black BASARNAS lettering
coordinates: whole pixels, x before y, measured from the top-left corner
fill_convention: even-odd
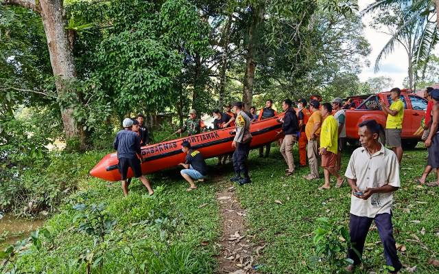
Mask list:
[[[250,147],[257,148],[282,137],[283,135],[278,135],[282,124],[277,122],[277,119],[282,116],[283,113],[269,119],[263,119],[260,122],[252,123],[250,132],[253,139]],[[235,150],[232,147],[234,131],[234,127],[223,128],[180,139],[163,141],[159,144],[143,146],[141,148],[143,155],[142,173],[150,174],[159,170],[176,167],[178,163],[184,163],[186,155],[181,151],[181,143],[185,140],[191,143],[191,147],[194,150],[202,152],[204,159],[230,154]],[[97,163],[90,171],[90,174],[106,181],[120,181],[121,174],[117,170],[117,163],[117,152],[110,153]],[[128,170],[128,178],[132,176],[133,173],[130,168]]]

